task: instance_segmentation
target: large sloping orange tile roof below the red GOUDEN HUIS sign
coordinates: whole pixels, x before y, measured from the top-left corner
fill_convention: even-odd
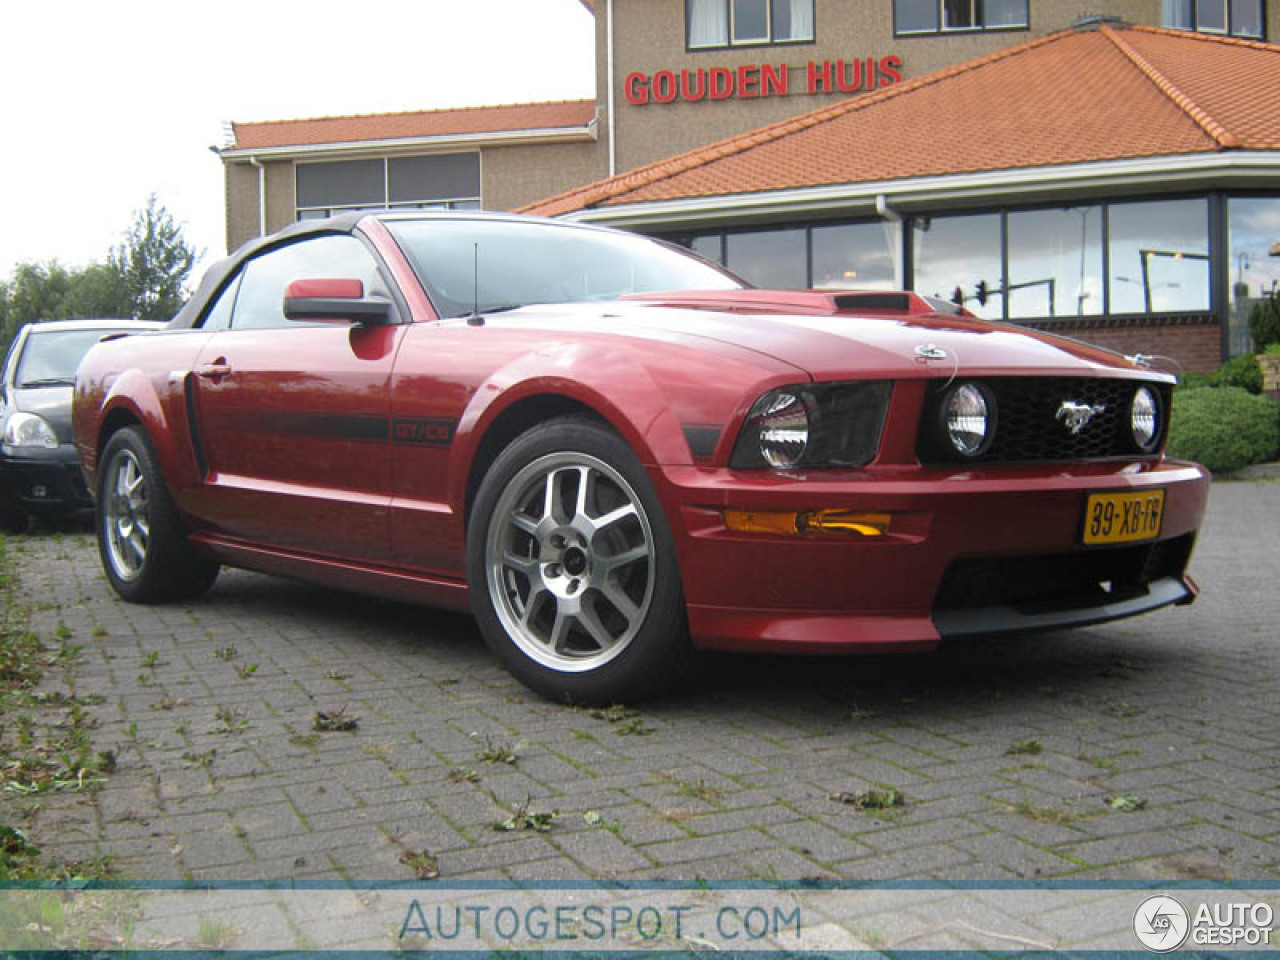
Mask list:
[[[1105,24],[829,104],[524,212],[557,216],[797,187],[1280,150],[1277,104],[1280,46]]]

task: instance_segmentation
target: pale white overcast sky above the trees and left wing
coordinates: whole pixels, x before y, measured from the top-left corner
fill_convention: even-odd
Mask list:
[[[101,260],[154,192],[225,252],[228,120],[595,93],[580,0],[5,3],[0,280]]]

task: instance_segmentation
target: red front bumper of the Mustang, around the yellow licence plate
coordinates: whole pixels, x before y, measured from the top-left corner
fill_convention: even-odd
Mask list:
[[[1097,623],[1174,603],[1208,474],[1181,462],[764,471],[654,468],[694,640],[771,653],[928,650],[946,636]],[[1165,490],[1155,540],[1082,544],[1092,493]],[[724,509],[891,515],[881,538],[741,534]]]

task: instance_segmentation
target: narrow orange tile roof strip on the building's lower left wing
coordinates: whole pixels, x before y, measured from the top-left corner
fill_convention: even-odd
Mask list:
[[[320,116],[308,120],[233,123],[232,150],[316,146],[379,140],[449,137],[467,133],[507,133],[586,127],[595,119],[594,100],[544,104],[470,106],[457,110],[416,110],[398,114]]]

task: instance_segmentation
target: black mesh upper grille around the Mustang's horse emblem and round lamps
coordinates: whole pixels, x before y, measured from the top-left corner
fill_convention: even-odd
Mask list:
[[[1106,378],[1019,376],[988,378],[983,384],[996,401],[996,435],[977,462],[1006,463],[1055,460],[1103,460],[1143,456],[1130,430],[1130,403],[1139,385],[1160,397],[1164,448],[1169,424],[1170,387],[1161,383]],[[931,384],[916,444],[922,463],[974,462],[961,457],[946,436],[942,402],[951,384]],[[1101,404],[1088,425],[1071,434],[1057,413],[1064,401]]]

